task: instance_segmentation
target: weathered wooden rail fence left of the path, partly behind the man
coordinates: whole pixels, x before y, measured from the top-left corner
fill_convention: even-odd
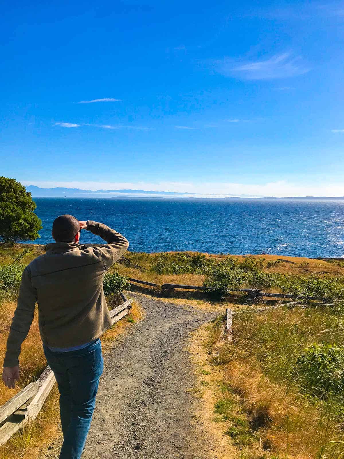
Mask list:
[[[114,324],[126,316],[132,307],[133,300],[127,300],[124,295],[122,298],[123,304],[110,311]],[[28,384],[0,407],[0,446],[37,417],[54,384],[55,376],[48,365],[37,381]]]

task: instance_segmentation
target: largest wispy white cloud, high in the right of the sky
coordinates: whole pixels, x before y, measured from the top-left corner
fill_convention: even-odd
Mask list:
[[[216,62],[217,71],[222,75],[245,80],[265,80],[289,78],[310,71],[301,56],[286,52],[275,54],[269,59],[239,63],[226,58]]]

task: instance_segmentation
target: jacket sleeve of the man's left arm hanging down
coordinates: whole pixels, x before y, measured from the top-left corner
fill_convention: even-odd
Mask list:
[[[7,339],[4,367],[19,365],[22,342],[28,336],[36,301],[37,292],[31,284],[31,272],[27,266],[22,273],[17,308],[14,311],[10,334]]]

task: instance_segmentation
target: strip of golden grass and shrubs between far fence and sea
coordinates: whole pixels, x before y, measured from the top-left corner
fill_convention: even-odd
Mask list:
[[[344,261],[329,263],[275,255],[210,255],[192,252],[126,254],[118,271],[157,284],[205,285],[213,299],[231,289],[260,288],[275,293],[344,298]],[[141,267],[141,269],[139,269]]]

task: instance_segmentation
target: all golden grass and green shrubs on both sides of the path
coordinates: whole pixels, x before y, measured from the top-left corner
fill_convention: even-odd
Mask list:
[[[0,248],[3,351],[22,269],[41,253],[42,246],[35,245]],[[210,422],[234,448],[233,457],[343,457],[344,263],[341,260],[127,252],[122,263],[106,274],[104,287],[110,305],[116,304],[122,289],[130,287],[128,278],[159,285],[205,285],[208,291],[167,294],[169,301],[182,301],[172,298],[181,295],[189,303],[205,302],[214,310],[230,307],[238,312],[233,316],[232,342],[222,339],[224,315],[203,330],[208,364],[202,367],[200,387],[195,392],[199,397],[211,393]],[[244,293],[231,291],[245,287],[305,293],[330,301],[255,313],[259,305],[247,305]],[[166,295],[157,288],[150,288],[150,293]],[[276,300],[271,300],[271,304],[275,303]],[[138,314],[138,309],[133,308],[133,315],[123,323],[136,320]],[[105,334],[105,346],[117,333],[115,327]],[[37,317],[22,346],[21,360],[22,387],[36,379],[45,366]],[[13,393],[2,387],[0,404]],[[56,397],[56,392],[50,395],[30,431],[18,434],[0,448],[1,459],[13,454],[19,457],[19,452],[20,457],[32,457],[30,454],[38,451],[46,438],[55,435],[56,425],[51,419],[57,416]]]

